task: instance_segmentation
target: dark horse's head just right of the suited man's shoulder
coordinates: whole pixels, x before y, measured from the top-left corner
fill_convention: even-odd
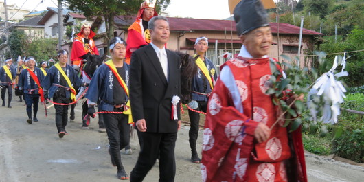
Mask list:
[[[191,82],[197,73],[197,65],[189,54],[176,52],[181,57],[181,92],[183,104],[191,101]]]

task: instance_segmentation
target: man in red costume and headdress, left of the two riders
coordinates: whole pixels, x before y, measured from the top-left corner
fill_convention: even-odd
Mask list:
[[[82,67],[82,60],[85,60],[89,54],[99,55],[98,48],[93,41],[95,32],[91,30],[89,23],[82,24],[81,31],[73,40],[71,62],[73,69],[78,71]]]

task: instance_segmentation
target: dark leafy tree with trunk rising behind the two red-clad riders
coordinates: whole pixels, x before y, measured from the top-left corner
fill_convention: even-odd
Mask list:
[[[113,37],[114,17],[123,14],[137,14],[144,0],[64,0],[71,10],[83,12],[88,18],[94,16],[104,17],[108,41]],[[152,1],[152,0],[151,0]],[[170,0],[157,1],[157,10],[164,10]]]

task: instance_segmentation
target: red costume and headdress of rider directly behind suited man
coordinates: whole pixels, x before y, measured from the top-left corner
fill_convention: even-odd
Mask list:
[[[131,54],[133,53],[131,49],[139,49],[143,45],[148,45],[150,43],[150,32],[149,30],[144,30],[143,27],[143,13],[146,8],[155,8],[154,3],[149,3],[149,1],[144,1],[141,3],[140,9],[137,14],[136,21],[128,27],[128,39],[126,40],[126,60],[125,62],[130,65]],[[155,11],[153,16],[157,16]]]

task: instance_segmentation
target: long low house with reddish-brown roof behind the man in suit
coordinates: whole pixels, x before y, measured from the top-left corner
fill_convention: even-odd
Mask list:
[[[126,40],[128,38],[128,27],[135,21],[135,16],[115,16],[115,36],[120,36]],[[216,65],[221,65],[226,58],[218,58],[225,52],[238,54],[242,43],[236,35],[236,24],[229,20],[214,19],[187,19],[168,17],[170,23],[170,38],[167,43],[168,49],[194,54],[194,41],[200,36],[209,38],[209,49],[207,57]],[[269,56],[279,58],[279,55],[298,56],[299,27],[288,23],[270,23],[273,34],[272,49]],[[107,41],[100,36],[105,34],[104,22],[102,19],[95,19],[93,29],[98,29],[98,38],[95,43],[99,52],[104,53]],[[318,38],[323,36],[319,32],[303,29],[302,31],[301,54],[313,51],[315,45],[319,43]],[[217,54],[216,54],[217,53]],[[304,62],[301,58],[301,66],[309,66],[310,62]]]

